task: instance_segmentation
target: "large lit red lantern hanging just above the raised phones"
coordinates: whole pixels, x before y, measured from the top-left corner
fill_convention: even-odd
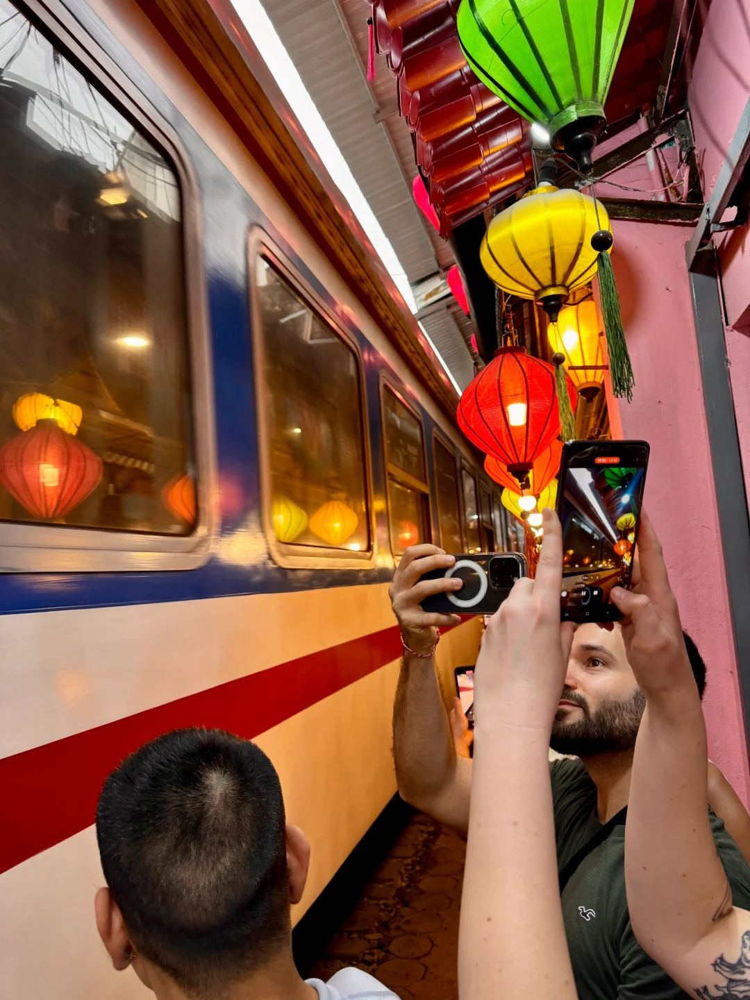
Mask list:
[[[578,397],[565,376],[573,410]],[[501,347],[465,389],[458,425],[472,444],[493,455],[519,483],[560,433],[554,365],[522,347]]]

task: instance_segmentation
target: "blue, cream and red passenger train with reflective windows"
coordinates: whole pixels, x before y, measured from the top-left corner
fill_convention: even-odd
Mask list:
[[[404,548],[517,551],[457,396],[223,0],[0,0],[2,993],[145,995],[106,775],[257,740],[299,920],[396,793]],[[440,644],[446,695],[477,619]]]

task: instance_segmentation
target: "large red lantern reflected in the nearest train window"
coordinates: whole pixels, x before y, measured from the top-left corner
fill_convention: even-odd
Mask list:
[[[0,483],[40,521],[59,521],[99,485],[102,460],[54,420],[0,448]]]

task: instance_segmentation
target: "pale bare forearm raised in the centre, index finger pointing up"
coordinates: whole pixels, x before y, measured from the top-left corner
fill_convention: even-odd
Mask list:
[[[534,581],[484,635],[474,684],[474,781],[461,899],[461,1000],[575,1000],[558,889],[548,747],[572,626],[560,626],[560,522],[544,511]]]

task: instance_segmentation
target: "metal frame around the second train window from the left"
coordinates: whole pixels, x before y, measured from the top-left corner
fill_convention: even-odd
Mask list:
[[[248,274],[250,316],[252,326],[252,358],[256,396],[256,424],[258,434],[258,465],[260,469],[261,517],[263,534],[273,561],[284,569],[368,569],[375,565],[375,519],[373,511],[372,455],[370,425],[367,417],[367,387],[362,352],[355,337],[337,319],[328,303],[294,266],[276,242],[260,226],[252,226],[248,234]],[[268,433],[267,407],[260,405],[267,398],[265,383],[265,343],[263,321],[256,284],[256,265],[267,261],[290,285],[295,294],[339,337],[353,352],[359,377],[359,405],[362,419],[362,459],[364,462],[365,503],[369,547],[359,552],[334,549],[329,546],[295,545],[280,542],[273,530],[272,472]],[[335,553],[335,554],[333,554]]]

